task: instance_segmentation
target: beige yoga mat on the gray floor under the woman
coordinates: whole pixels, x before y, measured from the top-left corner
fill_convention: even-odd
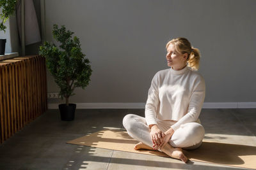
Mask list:
[[[67,143],[168,157],[163,152],[134,150],[133,146],[138,141],[132,139],[126,131],[120,130],[102,130]],[[256,169],[256,146],[203,141],[196,150],[184,150],[184,153],[192,161]]]

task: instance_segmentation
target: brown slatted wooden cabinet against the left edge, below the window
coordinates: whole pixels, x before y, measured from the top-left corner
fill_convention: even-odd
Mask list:
[[[0,143],[47,110],[45,58],[0,61]]]

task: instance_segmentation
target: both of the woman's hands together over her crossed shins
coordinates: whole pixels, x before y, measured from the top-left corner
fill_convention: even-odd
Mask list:
[[[152,125],[150,129],[150,136],[154,144],[152,148],[155,150],[162,150],[164,145],[166,145],[172,137],[172,133],[168,131],[162,132],[157,125]]]

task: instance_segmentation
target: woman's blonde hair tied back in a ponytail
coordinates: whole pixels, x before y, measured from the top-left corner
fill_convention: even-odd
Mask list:
[[[188,53],[188,59],[187,59],[187,64],[189,67],[191,67],[192,70],[198,70],[199,69],[199,62],[200,62],[200,51],[198,48],[194,48],[191,46],[189,43],[188,39],[186,38],[175,38],[169,41],[166,44],[166,48],[170,44],[173,44],[175,46],[175,49],[179,53]]]

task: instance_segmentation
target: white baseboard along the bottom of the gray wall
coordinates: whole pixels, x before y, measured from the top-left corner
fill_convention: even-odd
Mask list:
[[[59,103],[48,103],[49,109],[58,109]],[[76,103],[77,109],[144,109],[145,103]],[[204,109],[256,108],[256,102],[204,103]]]

